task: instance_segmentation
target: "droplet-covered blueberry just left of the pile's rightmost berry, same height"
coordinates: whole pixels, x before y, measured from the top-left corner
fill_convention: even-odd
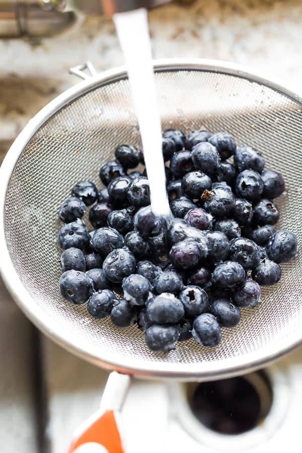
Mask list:
[[[259,247],[251,239],[236,238],[230,242],[230,260],[241,264],[245,270],[259,264]]]

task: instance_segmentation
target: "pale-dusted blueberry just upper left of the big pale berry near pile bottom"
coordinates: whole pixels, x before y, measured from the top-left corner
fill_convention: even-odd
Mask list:
[[[145,305],[152,285],[145,277],[139,274],[131,274],[124,278],[122,287],[124,297],[129,300],[130,305]]]

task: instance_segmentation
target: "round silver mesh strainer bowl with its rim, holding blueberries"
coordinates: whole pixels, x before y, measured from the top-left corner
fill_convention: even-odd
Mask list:
[[[302,100],[234,65],[168,60],[156,65],[163,129],[228,130],[239,144],[261,150],[266,167],[282,172],[287,193],[277,200],[279,227],[302,241]],[[29,318],[61,345],[108,368],[141,375],[200,379],[259,366],[300,341],[302,258],[282,266],[281,281],[262,289],[262,303],[242,311],[221,344],[193,340],[169,354],[150,352],[134,326],[95,321],[86,307],[65,303],[56,236],[57,208],[81,179],[100,186],[98,170],[121,143],[139,145],[124,69],[68,90],[20,134],[1,169],[1,268]]]

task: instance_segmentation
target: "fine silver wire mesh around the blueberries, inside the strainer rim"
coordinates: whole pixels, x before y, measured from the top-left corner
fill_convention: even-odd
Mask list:
[[[238,144],[260,150],[266,168],[283,174],[287,190],[276,200],[281,213],[277,227],[292,230],[302,243],[301,106],[264,85],[224,73],[166,70],[156,73],[156,84],[163,129],[227,130]],[[58,207],[79,180],[92,180],[100,188],[99,168],[114,158],[115,147],[122,143],[140,145],[126,79],[96,84],[67,104],[41,126],[20,156],[8,185],[5,231],[14,266],[33,303],[80,340],[88,353],[93,345],[100,359],[110,353],[115,362],[131,358],[142,369],[150,362],[156,368],[158,361],[189,366],[221,359],[227,367],[228,359],[246,358],[301,331],[301,257],[282,265],[280,282],[262,287],[261,304],[242,310],[240,324],[223,329],[215,348],[190,340],[168,354],[155,354],[135,325],[118,329],[110,319],[96,321],[86,304],[74,306],[60,297]]]

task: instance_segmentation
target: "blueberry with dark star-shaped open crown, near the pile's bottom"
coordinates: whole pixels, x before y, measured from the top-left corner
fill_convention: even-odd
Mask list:
[[[179,294],[179,300],[184,306],[185,316],[195,318],[209,309],[209,298],[204,289],[199,286],[187,286]]]

